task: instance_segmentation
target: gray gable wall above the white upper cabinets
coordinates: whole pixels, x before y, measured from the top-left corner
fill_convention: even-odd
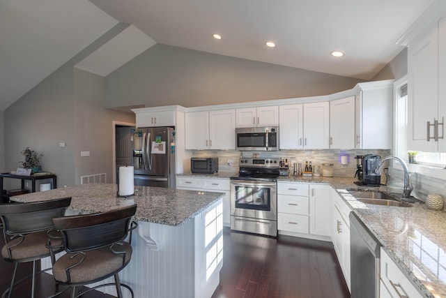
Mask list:
[[[318,96],[351,89],[349,77],[157,44],[105,80],[107,107],[183,105]]]

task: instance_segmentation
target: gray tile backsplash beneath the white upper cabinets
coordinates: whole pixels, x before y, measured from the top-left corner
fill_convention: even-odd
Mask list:
[[[284,150],[284,151],[235,151],[235,150],[203,150],[193,151],[194,157],[218,157],[219,171],[224,172],[238,172],[238,161],[240,157],[252,157],[254,153],[258,153],[259,157],[276,157],[287,158],[291,167],[293,161],[295,163],[302,163],[305,166],[305,161],[312,161],[312,165],[321,165],[323,163],[332,163],[334,165],[334,177],[353,177],[356,171],[355,156],[364,154],[378,154],[379,156],[388,156],[391,154],[390,150]],[[341,156],[348,157],[348,165],[341,165]],[[230,161],[230,165],[228,163]]]

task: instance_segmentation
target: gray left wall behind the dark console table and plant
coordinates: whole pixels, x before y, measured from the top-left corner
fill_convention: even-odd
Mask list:
[[[118,24],[110,29],[4,111],[7,172],[20,166],[20,151],[29,146],[44,154],[40,165],[57,175],[59,187],[75,185],[79,174],[97,174],[96,170],[112,174],[111,118],[133,122],[134,116],[98,107],[104,102],[103,79],[74,66],[126,27],[128,24]],[[102,121],[103,125],[98,125]],[[59,142],[65,142],[66,147],[60,148]],[[106,147],[107,154],[102,154]],[[88,150],[84,148],[94,154],[89,162],[79,161],[80,150]],[[96,166],[94,172],[90,172],[90,163]],[[6,188],[20,186],[15,179],[5,179],[5,184]]]

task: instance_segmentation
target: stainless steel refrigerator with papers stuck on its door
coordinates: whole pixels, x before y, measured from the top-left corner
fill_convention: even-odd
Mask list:
[[[132,161],[135,186],[175,188],[174,128],[137,128]]]

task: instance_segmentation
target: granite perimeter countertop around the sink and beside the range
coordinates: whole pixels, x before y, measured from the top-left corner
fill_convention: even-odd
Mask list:
[[[197,174],[184,176],[197,177]],[[428,209],[426,204],[413,204],[413,207],[364,204],[348,193],[348,190],[369,190],[401,194],[402,186],[357,186],[354,179],[342,177],[290,175],[280,176],[277,181],[330,184],[425,297],[446,297],[445,211]]]

